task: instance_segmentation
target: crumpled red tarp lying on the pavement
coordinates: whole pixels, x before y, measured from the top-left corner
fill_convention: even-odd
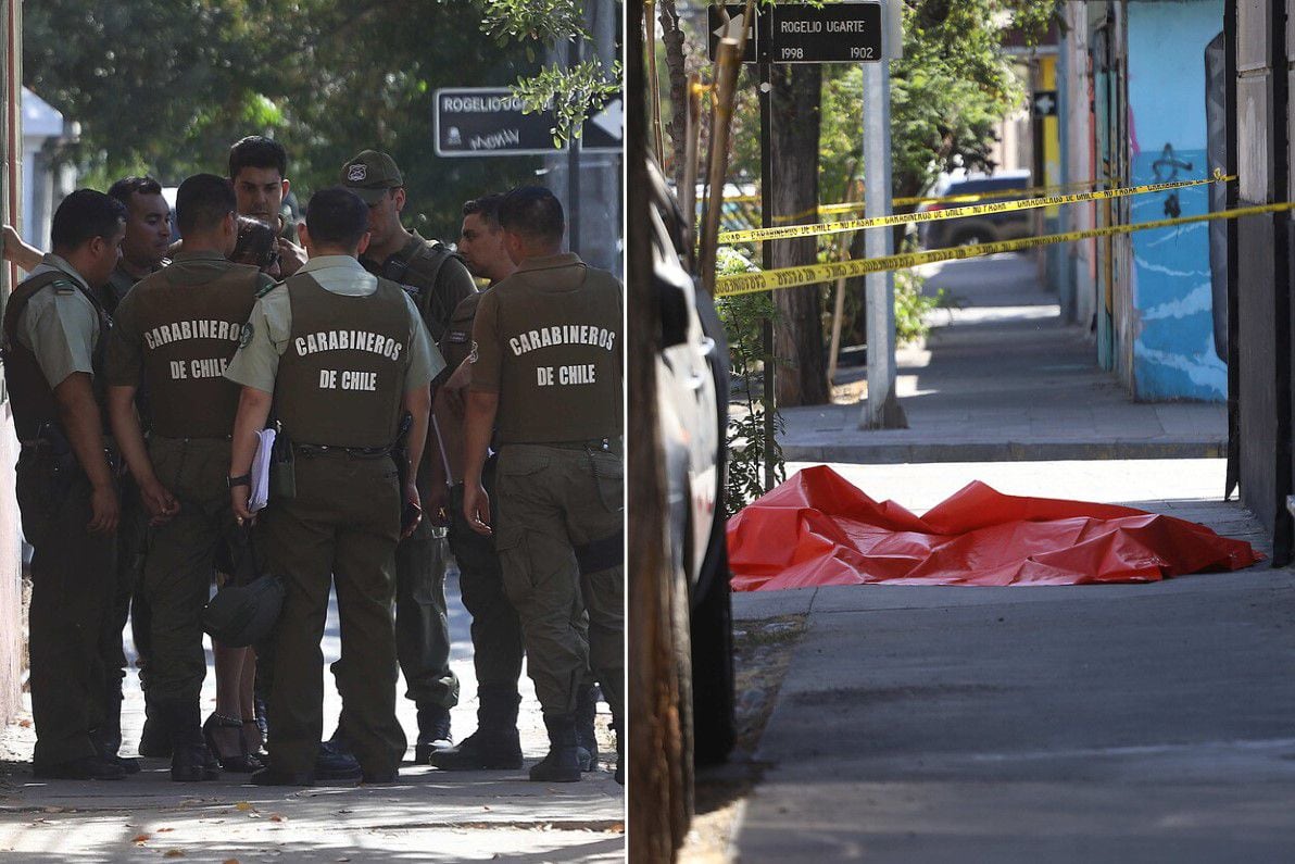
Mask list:
[[[925,517],[808,468],[729,519],[733,591],[1156,582],[1263,560],[1203,525],[970,483]]]

